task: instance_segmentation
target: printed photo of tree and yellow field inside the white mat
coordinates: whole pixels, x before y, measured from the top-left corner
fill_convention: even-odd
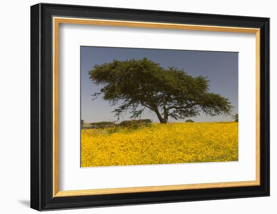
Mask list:
[[[80,53],[81,167],[239,161],[238,52]]]

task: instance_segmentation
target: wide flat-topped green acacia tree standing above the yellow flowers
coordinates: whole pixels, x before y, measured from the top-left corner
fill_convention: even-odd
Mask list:
[[[147,58],[95,65],[89,76],[102,86],[94,99],[103,95],[111,105],[119,105],[113,111],[118,117],[129,111],[131,118],[137,118],[149,109],[167,123],[169,117],[179,120],[200,112],[229,115],[233,108],[228,98],[209,92],[205,77],[191,77],[175,67],[165,69]]]

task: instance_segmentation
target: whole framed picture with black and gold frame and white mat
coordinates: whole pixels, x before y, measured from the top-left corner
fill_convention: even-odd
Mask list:
[[[269,18],[31,7],[31,207],[269,196]]]

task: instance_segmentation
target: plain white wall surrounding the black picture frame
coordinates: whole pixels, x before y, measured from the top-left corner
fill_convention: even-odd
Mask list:
[[[276,96],[276,38],[277,14],[274,1],[48,1],[49,3],[79,4],[106,7],[167,10],[211,14],[270,17],[271,26],[271,196],[183,202],[170,204],[122,206],[55,213],[273,213],[277,200],[277,170],[274,155],[277,146],[275,123]],[[0,150],[0,209],[2,213],[35,213],[29,208],[30,157],[30,6],[37,1],[5,1],[1,4],[1,150]],[[245,83],[247,84],[247,83]],[[15,124],[20,125],[15,125]],[[20,128],[19,128],[20,126]],[[15,128],[13,128],[15,127]]]

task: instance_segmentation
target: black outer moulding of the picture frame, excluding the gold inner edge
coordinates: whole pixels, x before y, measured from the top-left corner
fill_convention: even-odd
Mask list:
[[[260,29],[260,185],[53,197],[52,17]],[[31,6],[31,208],[37,210],[269,196],[269,18],[75,5]]]

